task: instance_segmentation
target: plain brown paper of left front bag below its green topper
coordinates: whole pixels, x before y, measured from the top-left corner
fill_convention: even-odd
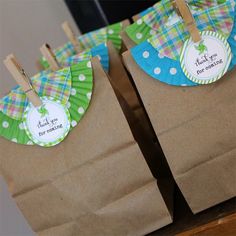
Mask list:
[[[93,60],[85,117],[51,148],[0,138],[1,174],[33,230],[44,235],[144,235],[171,222],[108,78]]]

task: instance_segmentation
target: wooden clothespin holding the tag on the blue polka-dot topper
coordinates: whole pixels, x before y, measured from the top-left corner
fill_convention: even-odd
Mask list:
[[[201,35],[197,28],[194,17],[186,4],[185,0],[175,0],[175,8],[180,16],[183,18],[185,25],[188,28],[188,31],[193,39],[193,42],[201,41]]]

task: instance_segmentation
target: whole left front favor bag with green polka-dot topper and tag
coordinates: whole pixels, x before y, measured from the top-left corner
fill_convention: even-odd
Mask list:
[[[0,170],[33,230],[145,235],[169,224],[170,213],[98,60],[36,76],[31,83],[44,106],[32,107],[23,91],[35,93],[19,87],[1,99]],[[50,110],[53,105],[67,110],[65,120],[60,109]],[[32,115],[40,120],[36,125]],[[70,120],[69,127],[56,119]],[[55,145],[51,139],[61,127],[68,133]]]

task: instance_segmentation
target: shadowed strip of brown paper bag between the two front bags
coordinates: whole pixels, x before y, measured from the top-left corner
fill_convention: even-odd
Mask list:
[[[153,174],[168,209],[173,211],[174,180],[154,129],[145,111],[138,91],[132,83],[111,42],[108,42],[110,58],[109,78],[130,129]]]

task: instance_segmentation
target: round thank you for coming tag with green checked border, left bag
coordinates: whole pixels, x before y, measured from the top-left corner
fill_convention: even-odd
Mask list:
[[[70,130],[70,113],[60,101],[42,97],[43,105],[28,105],[24,113],[24,127],[29,138],[44,147],[60,143]]]

